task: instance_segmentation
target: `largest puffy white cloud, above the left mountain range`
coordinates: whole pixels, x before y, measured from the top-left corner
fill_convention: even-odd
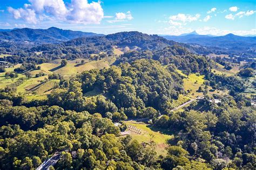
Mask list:
[[[99,24],[104,18],[100,2],[88,3],[87,0],[29,0],[24,8],[14,9],[9,7],[15,19],[24,19],[28,23],[36,24],[45,19],[58,19],[79,24]]]

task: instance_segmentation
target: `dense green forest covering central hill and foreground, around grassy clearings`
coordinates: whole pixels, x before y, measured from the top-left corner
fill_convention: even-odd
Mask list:
[[[36,169],[57,153],[60,159],[50,169],[256,168],[255,107],[242,93],[239,77],[215,74],[215,61],[198,55],[200,48],[121,32],[34,46],[24,56],[17,52],[3,60],[23,63],[15,76],[39,71],[37,64],[49,60],[113,56],[113,46],[130,50],[116,56],[109,68],[69,78],[49,74],[59,83],[44,100],[28,101],[17,91],[29,74],[0,89],[0,169]],[[43,52],[33,57],[38,51]],[[62,60],[60,66],[66,65]],[[253,76],[252,66],[238,76]],[[203,96],[174,111],[174,101],[188,94],[184,79],[190,74],[204,76],[198,89]],[[209,88],[223,93],[210,94]],[[173,135],[166,141],[166,155],[156,152],[153,137],[140,143],[121,135],[125,120],[142,118],[152,129]]]

